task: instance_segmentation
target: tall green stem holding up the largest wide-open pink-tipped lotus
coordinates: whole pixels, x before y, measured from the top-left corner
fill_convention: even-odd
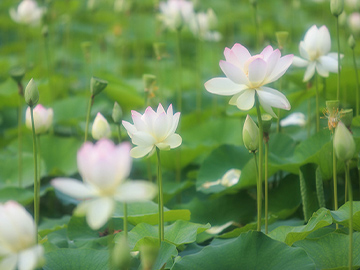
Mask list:
[[[258,181],[258,191],[257,191],[257,203],[258,203],[258,225],[257,225],[257,230],[261,231],[261,196],[262,196],[262,175],[263,175],[263,125],[262,125],[262,120],[261,120],[261,112],[260,112],[260,104],[259,104],[259,97],[256,93],[255,95],[255,104],[256,104],[256,112],[257,112],[257,117],[258,117],[258,125],[259,125],[259,181]],[[259,220],[260,220],[260,224],[259,224]]]

